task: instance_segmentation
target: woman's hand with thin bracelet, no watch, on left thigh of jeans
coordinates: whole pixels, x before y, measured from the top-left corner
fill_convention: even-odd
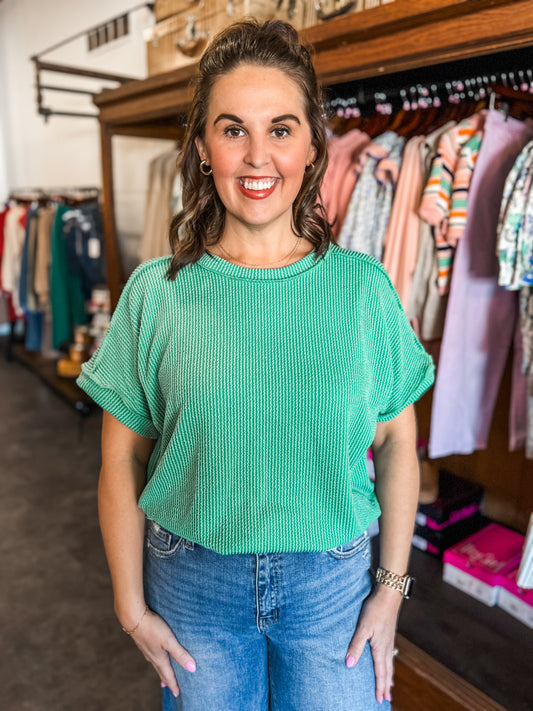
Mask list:
[[[178,696],[178,682],[169,655],[187,671],[195,671],[196,664],[187,650],[179,644],[167,623],[155,612],[147,610],[130,636],[159,674],[161,686],[168,686],[174,696]]]

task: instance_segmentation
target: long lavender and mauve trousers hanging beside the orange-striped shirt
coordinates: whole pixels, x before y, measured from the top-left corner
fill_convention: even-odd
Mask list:
[[[487,446],[496,396],[515,343],[509,448],[524,445],[526,380],[515,293],[498,286],[496,230],[507,175],[533,139],[533,124],[490,111],[470,186],[468,219],[455,256],[429,439],[432,458]],[[520,355],[521,358],[521,355]]]

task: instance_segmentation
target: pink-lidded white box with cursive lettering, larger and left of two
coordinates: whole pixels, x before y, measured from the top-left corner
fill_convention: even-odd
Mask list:
[[[491,523],[444,552],[443,579],[495,605],[501,579],[520,564],[524,540],[520,533]]]

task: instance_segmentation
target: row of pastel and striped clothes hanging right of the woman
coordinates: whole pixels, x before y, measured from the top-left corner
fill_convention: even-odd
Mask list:
[[[519,118],[483,101],[385,121],[340,111],[334,128],[349,129],[330,139],[323,200],[339,244],[382,260],[415,331],[442,339],[432,458],[487,446],[511,352],[509,449],[533,456],[533,95],[516,98]]]

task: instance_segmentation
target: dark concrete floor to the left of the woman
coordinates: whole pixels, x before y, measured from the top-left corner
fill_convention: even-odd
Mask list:
[[[99,412],[82,420],[0,354],[0,708],[157,711],[100,539]]]

